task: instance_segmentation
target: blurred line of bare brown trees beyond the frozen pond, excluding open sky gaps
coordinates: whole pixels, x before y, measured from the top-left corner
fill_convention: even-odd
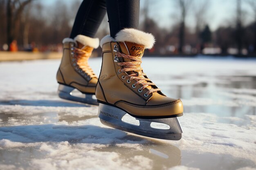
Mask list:
[[[211,31],[211,18],[207,17],[209,1],[175,0],[178,20],[170,29],[159,27],[149,17],[149,12],[156,1],[144,0],[141,9],[140,29],[153,33],[157,40],[155,47],[146,51],[148,55],[178,54],[256,54],[256,1],[247,0],[252,7],[254,22],[245,25],[241,0],[234,0],[236,18],[229,25],[220,26]],[[17,41],[19,50],[61,51],[63,38],[70,35],[72,24],[81,0],[72,0],[69,4],[57,0],[54,5],[43,4],[43,0],[1,0],[0,1],[0,49]],[[188,15],[195,18],[195,28],[186,23]],[[171,20],[171,18],[164,18]],[[102,38],[109,33],[107,17],[104,18],[97,37]],[[4,45],[5,44],[5,45]],[[101,49],[97,49],[100,55]]]

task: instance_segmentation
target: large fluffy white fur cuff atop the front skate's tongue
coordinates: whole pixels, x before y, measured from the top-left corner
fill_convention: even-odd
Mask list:
[[[123,29],[116,35],[118,42],[133,42],[145,46],[145,49],[151,49],[155,44],[155,37],[151,33],[145,33],[137,29]]]

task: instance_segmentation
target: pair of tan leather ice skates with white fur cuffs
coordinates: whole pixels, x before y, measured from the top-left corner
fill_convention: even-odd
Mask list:
[[[181,139],[177,117],[183,115],[182,101],[166,97],[140,66],[144,49],[152,48],[154,43],[153,35],[135,29],[123,29],[115,39],[105,36],[100,42],[103,57],[98,79],[88,59],[99,46],[99,39],[84,35],[77,35],[74,40],[65,38],[57,73],[59,97],[99,103],[98,116],[107,126],[147,137]],[[72,96],[74,89],[85,94],[85,98]],[[126,113],[139,120],[139,124],[124,121]],[[166,125],[164,129],[162,124]]]

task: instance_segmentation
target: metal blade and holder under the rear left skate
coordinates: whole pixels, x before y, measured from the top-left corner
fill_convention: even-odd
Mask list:
[[[91,94],[79,94],[78,91],[73,93],[74,90],[75,90],[74,87],[59,84],[59,86],[58,86],[58,96],[62,99],[72,100],[74,102],[81,102],[81,103],[86,103],[86,104],[99,105],[97,100],[92,98],[93,95],[91,95]],[[78,95],[78,96],[76,96],[76,95]]]

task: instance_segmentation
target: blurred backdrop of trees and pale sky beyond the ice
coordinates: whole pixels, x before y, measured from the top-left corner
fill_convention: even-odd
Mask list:
[[[8,59],[3,51],[61,57],[81,2],[0,0],[0,58]],[[141,0],[140,8],[140,29],[157,40],[148,56],[256,56],[256,0]],[[106,15],[98,38],[109,33],[107,21]]]

